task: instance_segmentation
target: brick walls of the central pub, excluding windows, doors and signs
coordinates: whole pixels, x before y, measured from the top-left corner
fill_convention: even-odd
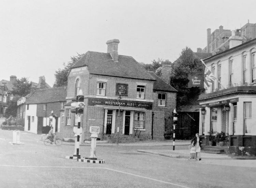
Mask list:
[[[67,86],[67,103],[71,101],[71,98],[75,94],[75,81],[80,79],[80,89],[82,89],[85,95],[85,107],[84,115],[82,117],[83,126],[83,139],[90,140],[89,127],[99,126],[100,134],[99,137],[102,138],[103,127],[104,127],[104,114],[105,109],[103,106],[88,106],[88,97],[94,98],[109,98],[117,99],[119,95],[116,95],[116,84],[127,84],[128,85],[128,96],[121,96],[124,100],[136,100],[137,98],[137,85],[145,85],[145,100],[154,100],[153,110],[146,110],[142,108],[136,109],[133,114],[133,127],[135,121],[136,112],[144,112],[144,130],[140,132],[141,139],[151,139],[152,138],[152,112],[154,111],[154,139],[163,139],[163,134],[165,131],[165,119],[168,126],[172,125],[172,112],[176,107],[176,93],[167,94],[167,102],[165,108],[159,108],[157,106],[158,92],[153,92],[154,81],[147,80],[136,80],[136,79],[125,79],[125,78],[115,78],[111,76],[100,76],[91,75],[88,72],[81,74],[79,76],[69,76],[68,86]],[[97,81],[106,82],[105,96],[96,96],[97,93]],[[140,100],[143,101],[143,100]],[[66,106],[70,108],[71,106]],[[118,119],[118,109],[116,110],[115,119],[115,132],[117,132],[117,127],[119,127],[119,133],[122,134],[123,131],[123,116],[124,112],[120,112]],[[65,111],[65,122],[61,123],[62,135],[65,138],[74,138],[73,134],[74,126],[74,115],[71,117],[71,125],[66,125],[66,111]],[[134,132],[133,132],[134,134]]]

